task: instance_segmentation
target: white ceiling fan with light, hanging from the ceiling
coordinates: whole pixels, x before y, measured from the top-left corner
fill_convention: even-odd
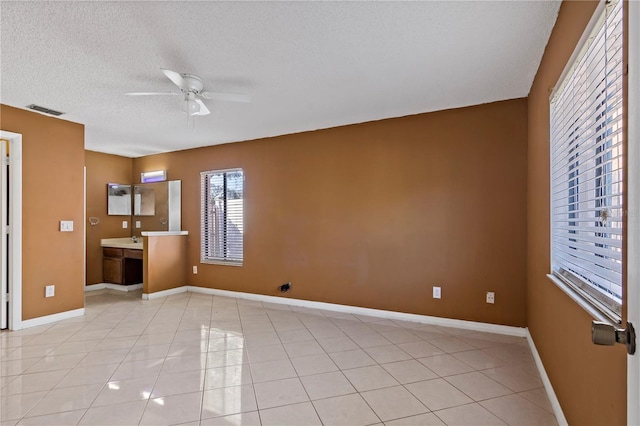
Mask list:
[[[211,114],[209,108],[202,101],[203,99],[215,99],[231,102],[250,102],[248,95],[240,93],[205,92],[202,79],[193,74],[180,74],[165,68],[160,68],[164,75],[173,82],[180,92],[129,92],[130,96],[182,96],[180,109],[188,116]]]

